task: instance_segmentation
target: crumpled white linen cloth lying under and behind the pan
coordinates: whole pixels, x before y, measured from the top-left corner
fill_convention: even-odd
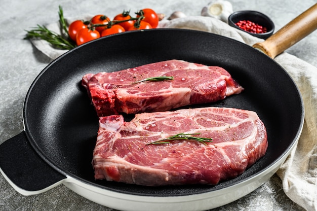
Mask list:
[[[57,32],[59,25],[47,26]],[[171,21],[160,21],[161,28],[186,28],[201,30],[232,38],[247,45],[263,40],[237,30],[212,17],[191,16]],[[65,53],[45,41],[32,40],[33,45],[52,59]],[[305,107],[305,121],[298,145],[276,172],[283,182],[286,195],[306,210],[317,210],[317,68],[286,52],[274,59],[296,82]]]

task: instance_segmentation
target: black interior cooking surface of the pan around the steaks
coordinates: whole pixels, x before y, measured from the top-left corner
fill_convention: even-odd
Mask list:
[[[224,67],[245,90],[196,107],[232,107],[257,112],[267,129],[266,155],[239,177],[216,186],[144,187],[95,181],[91,161],[98,118],[80,84],[82,77],[168,59]],[[303,121],[303,105],[297,87],[284,69],[257,50],[211,33],[153,29],[102,38],[59,57],[32,84],[23,115],[31,145],[57,170],[116,192],[177,196],[219,190],[263,172],[294,144]]]

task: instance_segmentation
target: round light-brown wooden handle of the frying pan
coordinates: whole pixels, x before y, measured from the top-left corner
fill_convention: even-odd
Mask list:
[[[317,28],[317,4],[297,16],[279,31],[262,43],[256,43],[258,48],[271,58],[282,53]]]

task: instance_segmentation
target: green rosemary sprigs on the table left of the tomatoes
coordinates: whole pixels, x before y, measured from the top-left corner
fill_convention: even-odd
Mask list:
[[[59,21],[61,24],[61,34],[57,34],[54,31],[49,30],[45,26],[37,25],[37,27],[34,27],[32,30],[26,30],[27,34],[24,39],[41,39],[45,40],[48,43],[50,43],[52,46],[59,48],[59,49],[65,49],[70,50],[76,47],[73,41],[69,38],[68,30],[66,27],[66,21],[63,16],[63,10],[62,7],[59,7]]]

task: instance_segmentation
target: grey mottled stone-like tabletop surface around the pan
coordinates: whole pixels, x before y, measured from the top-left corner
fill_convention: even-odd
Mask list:
[[[233,10],[257,10],[271,17],[276,30],[298,14],[317,3],[315,0],[232,0]],[[25,29],[58,20],[58,6],[65,17],[81,14],[105,14],[113,17],[124,9],[132,12],[152,8],[169,16],[183,11],[187,16],[200,15],[209,3],[204,1],[78,1],[78,0],[0,0],[0,144],[23,130],[22,106],[26,92],[34,78],[51,61],[23,40]],[[287,52],[317,66],[317,31],[287,50]],[[113,210],[91,202],[63,185],[45,193],[23,196],[0,175],[0,210]],[[303,210],[283,192],[276,176],[249,195],[214,210]]]

